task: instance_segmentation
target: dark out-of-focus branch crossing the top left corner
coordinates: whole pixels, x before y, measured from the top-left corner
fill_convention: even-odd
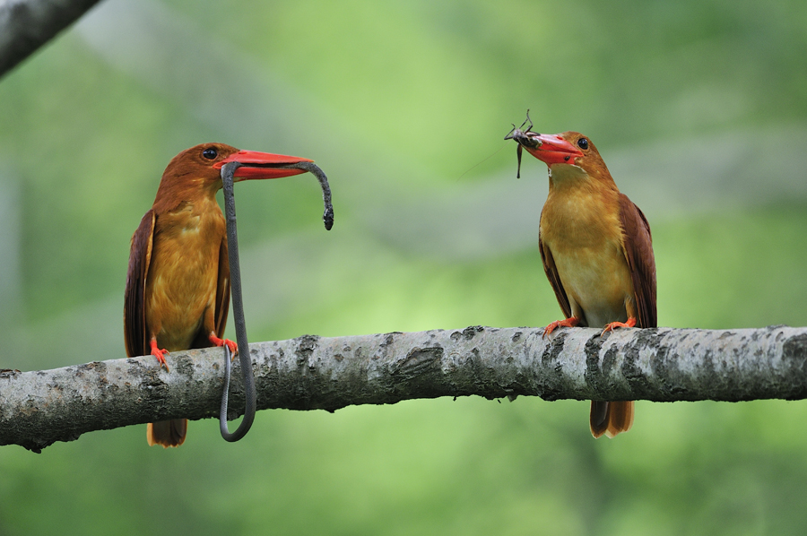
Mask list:
[[[98,0],[0,2],[0,78],[95,4]]]

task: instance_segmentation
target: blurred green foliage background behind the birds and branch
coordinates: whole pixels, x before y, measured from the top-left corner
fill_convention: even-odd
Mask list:
[[[124,357],[129,238],[171,157],[317,160],[241,184],[250,339],[560,317],[545,166],[597,144],[655,238],[659,324],[807,325],[807,4],[102,2],[0,81],[0,368]],[[230,323],[231,324],[231,323]],[[230,337],[232,331],[230,326]],[[0,535],[804,534],[807,404],[463,398],[262,411],[240,443],[145,427],[0,449]]]

